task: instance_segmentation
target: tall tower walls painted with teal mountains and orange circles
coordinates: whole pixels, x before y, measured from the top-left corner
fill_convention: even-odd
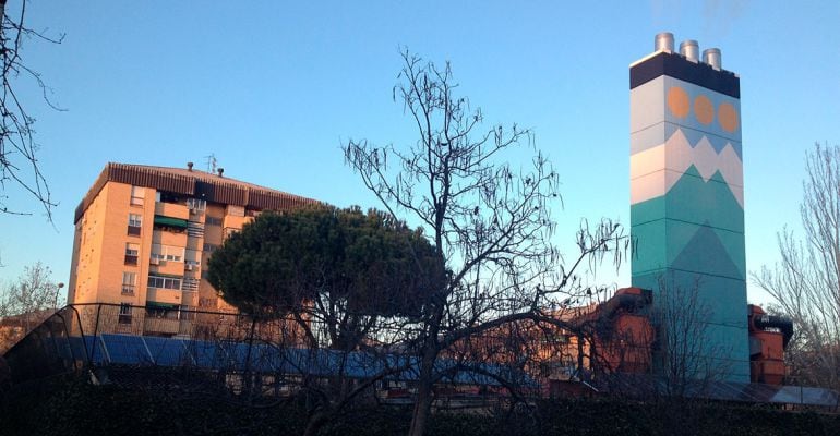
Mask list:
[[[665,66],[631,89],[633,286],[653,290],[655,305],[697,292],[699,359],[748,382],[740,94],[717,87],[737,78],[670,53],[633,68],[648,62]]]

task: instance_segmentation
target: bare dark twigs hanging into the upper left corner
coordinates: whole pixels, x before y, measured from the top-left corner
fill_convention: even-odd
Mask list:
[[[33,126],[35,118],[26,110],[24,102],[15,92],[15,83],[21,76],[35,81],[41,90],[44,100],[52,109],[60,110],[50,99],[51,89],[41,80],[40,73],[27,66],[22,58],[25,40],[36,38],[53,44],[61,44],[63,35],[57,39],[47,37],[44,33],[25,26],[27,0],[10,11],[7,0],[0,0],[0,58],[2,59],[2,90],[0,90],[0,213],[27,215],[16,209],[10,209],[5,203],[9,198],[9,184],[22,189],[38,201],[49,220],[52,219],[52,207],[56,205],[50,197],[47,179],[41,172],[34,141]]]

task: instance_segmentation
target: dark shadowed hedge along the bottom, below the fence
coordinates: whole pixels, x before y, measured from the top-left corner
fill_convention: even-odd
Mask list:
[[[3,435],[297,435],[303,401],[249,407],[183,389],[128,389],[57,378],[16,387],[0,400]],[[326,425],[325,436],[408,432],[410,408],[357,409]],[[429,436],[496,435],[840,435],[840,416],[766,405],[621,399],[543,400],[530,407],[436,413]]]

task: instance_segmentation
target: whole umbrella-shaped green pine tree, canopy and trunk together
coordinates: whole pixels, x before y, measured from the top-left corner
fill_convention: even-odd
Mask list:
[[[363,402],[376,382],[407,370],[406,361],[391,359],[392,346],[406,342],[405,327],[443,286],[443,265],[422,231],[389,214],[315,205],[244,226],[214,252],[208,280],[255,319],[292,319],[310,356],[337,358],[326,377],[301,368],[304,434],[314,435]],[[364,353],[352,355],[357,350]],[[351,376],[360,365],[368,372]]]

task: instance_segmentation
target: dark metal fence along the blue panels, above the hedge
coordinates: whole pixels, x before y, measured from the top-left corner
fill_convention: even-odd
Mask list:
[[[49,316],[0,360],[0,389],[62,374],[131,388],[190,389],[254,398],[323,388],[337,379],[370,384],[377,401],[412,401],[418,378],[413,325],[383,324],[347,350],[329,343],[316,319],[257,320],[230,312],[79,304]],[[574,338],[572,338],[574,339]],[[563,331],[508,326],[444,350],[435,368],[442,408],[487,407],[499,399],[595,395],[605,385],[581,379],[578,347]],[[613,374],[625,392],[656,391],[651,375]],[[709,393],[711,392],[711,393]],[[837,409],[818,388],[716,383],[698,393],[724,401],[812,404]]]

